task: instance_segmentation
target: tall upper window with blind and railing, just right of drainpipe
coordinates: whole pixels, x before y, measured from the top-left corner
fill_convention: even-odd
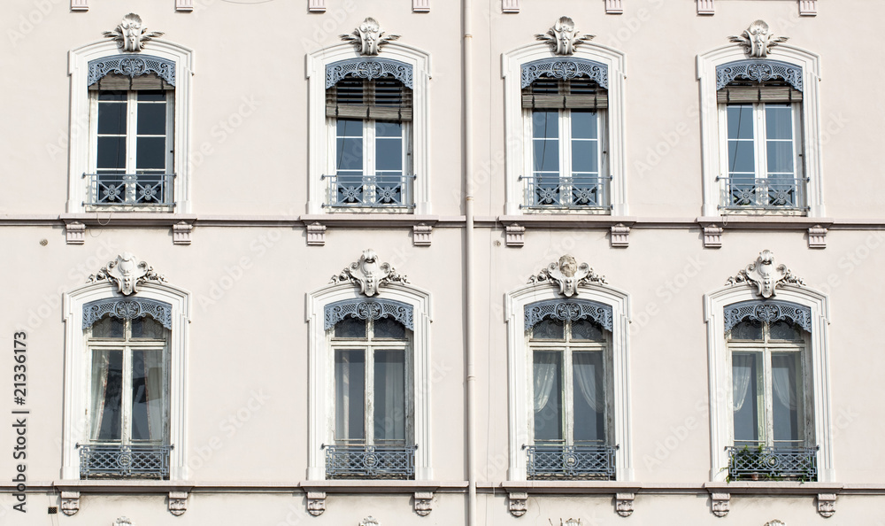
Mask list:
[[[607,210],[608,92],[587,77],[544,75],[522,91],[530,128],[526,206]]]

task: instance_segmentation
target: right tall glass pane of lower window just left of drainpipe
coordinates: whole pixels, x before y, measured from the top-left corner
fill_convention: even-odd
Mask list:
[[[405,353],[375,351],[375,441],[405,440]]]

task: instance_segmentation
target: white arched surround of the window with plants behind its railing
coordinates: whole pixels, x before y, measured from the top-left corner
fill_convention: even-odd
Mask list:
[[[728,475],[726,447],[734,445],[732,427],[734,414],[731,371],[728,368],[725,334],[725,309],[742,301],[756,301],[755,288],[737,285],[716,290],[704,296],[704,319],[707,323],[707,352],[710,375],[710,480],[724,482]],[[834,482],[833,434],[830,430],[829,351],[827,327],[829,302],[816,290],[785,285],[779,287],[778,301],[811,309],[811,385],[814,407],[812,437],[818,452],[818,482]]]

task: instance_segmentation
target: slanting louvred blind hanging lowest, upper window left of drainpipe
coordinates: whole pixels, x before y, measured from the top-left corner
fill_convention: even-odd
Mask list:
[[[412,120],[412,89],[396,80],[344,78],[326,90],[326,116]]]

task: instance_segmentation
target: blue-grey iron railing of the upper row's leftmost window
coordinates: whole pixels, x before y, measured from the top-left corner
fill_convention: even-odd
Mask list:
[[[84,205],[172,206],[175,174],[83,174],[89,180]]]

